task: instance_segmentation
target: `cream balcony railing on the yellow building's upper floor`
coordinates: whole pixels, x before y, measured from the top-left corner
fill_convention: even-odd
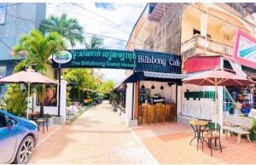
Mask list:
[[[233,47],[224,43],[214,42],[212,40],[207,39],[207,42],[204,37],[200,35],[195,35],[191,39],[187,40],[186,42],[182,43],[181,46],[181,54],[183,55],[184,59],[189,58],[195,54],[205,53],[205,46],[207,47],[208,55],[232,55]]]

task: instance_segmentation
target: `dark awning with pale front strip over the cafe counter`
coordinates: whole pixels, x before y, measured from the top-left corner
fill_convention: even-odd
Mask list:
[[[127,77],[123,83],[135,83],[138,81],[172,82],[182,84],[182,79],[188,76],[175,73],[162,73],[154,71],[137,71]]]

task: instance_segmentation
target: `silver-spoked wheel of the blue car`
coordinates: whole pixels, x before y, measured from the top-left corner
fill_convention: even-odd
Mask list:
[[[20,143],[19,149],[15,157],[16,164],[26,164],[31,156],[35,145],[35,140],[32,136],[26,136],[25,139]]]

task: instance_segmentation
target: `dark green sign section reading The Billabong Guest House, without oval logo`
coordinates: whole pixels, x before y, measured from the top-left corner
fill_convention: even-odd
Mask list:
[[[113,68],[133,69],[136,54],[131,51],[112,49],[70,49],[72,60],[62,64],[61,68]],[[55,61],[52,66],[58,67]]]

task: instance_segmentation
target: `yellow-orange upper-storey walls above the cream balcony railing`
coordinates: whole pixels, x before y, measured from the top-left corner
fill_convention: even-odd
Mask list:
[[[201,14],[203,13],[201,11],[197,11],[191,8],[192,7],[189,7],[188,9],[184,10],[182,20],[182,43],[193,37],[193,29],[201,31]],[[247,29],[247,26],[244,26],[241,21],[238,21],[237,17],[231,16],[230,14],[225,14],[220,9],[218,10],[218,7],[214,6],[213,4],[210,5],[208,12],[223,19],[220,20],[208,14],[207,34],[211,36],[211,40],[214,42],[224,43],[233,46],[235,33],[236,30],[239,29],[239,27],[242,27],[247,31],[252,31],[252,29]],[[197,15],[196,18],[195,15]],[[234,24],[236,26],[232,26],[229,23],[224,22],[224,20],[229,21],[231,24]],[[224,35],[228,35],[230,37],[230,40],[227,40]]]

